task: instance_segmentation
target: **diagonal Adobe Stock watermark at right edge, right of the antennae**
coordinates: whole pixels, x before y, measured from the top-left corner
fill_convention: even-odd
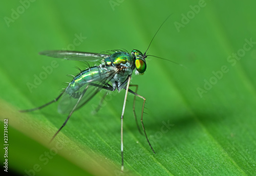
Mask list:
[[[256,44],[255,41],[252,41],[252,38],[245,39],[245,43],[243,44],[243,47],[238,49],[236,53],[232,53],[229,55],[226,60],[228,63],[231,64],[231,66],[235,66],[238,61],[240,61],[247,52],[249,52],[252,47]],[[199,96],[202,98],[204,93],[207,93],[209,90],[212,89],[214,85],[218,83],[219,80],[221,80],[225,73],[229,71],[229,68],[227,65],[222,65],[221,68],[217,71],[212,71],[213,76],[210,77],[208,80],[204,79],[204,86],[203,88],[198,87],[197,92]]]

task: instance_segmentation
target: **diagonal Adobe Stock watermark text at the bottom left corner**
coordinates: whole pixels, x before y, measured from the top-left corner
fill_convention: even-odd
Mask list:
[[[31,169],[25,169],[24,172],[26,173],[25,176],[35,176],[36,172],[39,172],[45,165],[49,163],[51,159],[55,155],[57,155],[58,150],[62,149],[63,146],[60,143],[56,143],[55,147],[51,147],[49,151],[44,152],[44,154],[38,157],[38,163],[35,163]]]

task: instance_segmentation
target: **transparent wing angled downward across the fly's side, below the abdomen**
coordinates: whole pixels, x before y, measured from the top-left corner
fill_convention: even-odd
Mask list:
[[[89,100],[92,99],[103,87],[108,87],[108,82],[116,73],[117,70],[110,70],[107,73],[101,74],[98,78],[95,77],[90,83],[84,84],[77,92],[74,92],[73,95],[77,95],[75,98],[65,92],[60,99],[58,112],[61,114],[70,113],[75,106],[75,110],[77,110],[87,104]]]

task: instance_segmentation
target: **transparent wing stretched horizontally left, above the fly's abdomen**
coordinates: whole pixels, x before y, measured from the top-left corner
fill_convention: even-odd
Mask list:
[[[43,51],[39,55],[45,55],[53,58],[61,58],[67,60],[75,61],[98,61],[104,58],[109,57],[110,55],[102,53],[86,53],[86,52],[75,52],[75,51],[65,51],[65,50],[52,50],[52,51]]]

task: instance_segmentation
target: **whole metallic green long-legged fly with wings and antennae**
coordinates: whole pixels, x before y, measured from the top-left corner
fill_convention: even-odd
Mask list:
[[[164,22],[168,19],[168,17],[164,20]],[[163,22],[163,23],[164,23]],[[162,27],[161,24],[160,28]],[[160,30],[158,29],[158,31]],[[156,34],[158,33],[156,32]],[[155,38],[154,35],[153,39]],[[150,42],[150,45],[153,41]],[[150,45],[147,47],[146,52]],[[86,52],[75,52],[75,51],[44,51],[40,52],[40,55],[45,55],[54,58],[61,58],[66,60],[75,60],[75,61],[85,61],[85,62],[95,62],[100,61],[101,64],[98,66],[93,66],[87,68],[85,70],[81,70],[79,74],[73,76],[73,80],[69,83],[68,87],[63,90],[58,97],[56,97],[51,102],[42,105],[37,108],[22,110],[20,112],[30,112],[39,110],[44,108],[54,102],[57,102],[60,99],[58,105],[59,113],[69,113],[65,122],[61,125],[59,130],[52,137],[51,141],[54,137],[60,132],[60,130],[66,125],[69,118],[73,114],[74,111],[81,108],[83,105],[86,105],[90,99],[94,97],[101,89],[105,89],[108,91],[114,91],[121,89],[125,89],[125,97],[123,103],[123,109],[121,114],[121,170],[123,171],[123,115],[125,110],[125,103],[127,99],[127,93],[130,92],[135,95],[134,97],[134,106],[135,106],[135,98],[139,97],[143,99],[142,111],[141,111],[141,125],[146,137],[148,144],[150,145],[153,153],[155,153],[153,147],[150,144],[150,141],[147,138],[146,131],[143,124],[143,111],[146,99],[137,94],[138,85],[130,85],[132,73],[135,70],[136,74],[143,74],[146,70],[146,52],[142,54],[137,49],[134,49],[131,54],[127,51],[115,50],[111,51],[111,53],[86,53]],[[159,58],[159,57],[157,57]],[[163,58],[160,58],[163,59]],[[169,61],[169,60],[168,60]],[[172,61],[171,61],[172,62]],[[136,91],[132,91],[130,89],[131,86],[136,86]],[[134,110],[135,120],[137,123],[137,127],[139,128],[135,110]]]

